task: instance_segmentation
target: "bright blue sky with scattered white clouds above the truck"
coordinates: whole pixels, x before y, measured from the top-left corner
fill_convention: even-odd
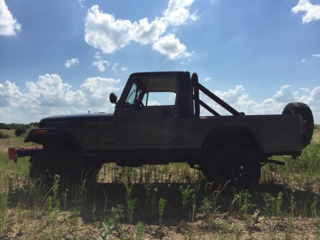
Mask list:
[[[302,101],[320,123],[319,39],[320,0],[0,0],[0,122],[111,112],[130,73],[187,70],[246,114]]]

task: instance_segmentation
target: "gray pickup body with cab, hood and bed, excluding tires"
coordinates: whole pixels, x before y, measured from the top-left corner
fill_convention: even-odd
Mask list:
[[[151,83],[152,84],[151,84]],[[135,100],[129,102],[135,84]],[[233,115],[219,115],[199,98],[199,89]],[[150,92],[175,93],[171,105],[146,105]],[[137,98],[145,104],[136,104]],[[211,96],[210,96],[211,97]],[[142,102],[142,101],[141,101]],[[202,105],[214,116],[199,116]],[[294,113],[294,112],[293,112]],[[303,142],[300,114],[244,115],[237,112],[197,82],[187,71],[142,72],[129,76],[112,113],[59,115],[41,119],[25,141],[51,147],[67,142],[88,162],[118,165],[187,162],[190,166],[207,160],[208,152],[223,144],[251,149],[258,162],[272,155],[299,155]],[[313,122],[312,122],[313,124]],[[22,150],[32,155],[42,149]]]

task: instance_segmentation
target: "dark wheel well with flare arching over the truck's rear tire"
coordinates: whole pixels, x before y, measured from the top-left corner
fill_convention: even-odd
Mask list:
[[[256,154],[263,152],[260,141],[248,131],[218,131],[210,133],[202,144],[200,153],[225,144],[237,144],[252,149]]]

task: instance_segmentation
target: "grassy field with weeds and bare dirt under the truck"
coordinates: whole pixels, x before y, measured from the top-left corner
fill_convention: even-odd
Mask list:
[[[9,130],[10,131],[10,130]],[[11,130],[13,131],[13,130]],[[320,239],[320,132],[297,160],[274,157],[250,192],[213,186],[187,164],[104,164],[98,182],[28,177],[7,159],[23,136],[0,139],[0,239]]]

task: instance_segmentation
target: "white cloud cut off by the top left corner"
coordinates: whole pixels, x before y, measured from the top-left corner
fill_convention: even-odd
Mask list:
[[[0,35],[14,36],[21,24],[12,16],[4,0],[0,0]]]

